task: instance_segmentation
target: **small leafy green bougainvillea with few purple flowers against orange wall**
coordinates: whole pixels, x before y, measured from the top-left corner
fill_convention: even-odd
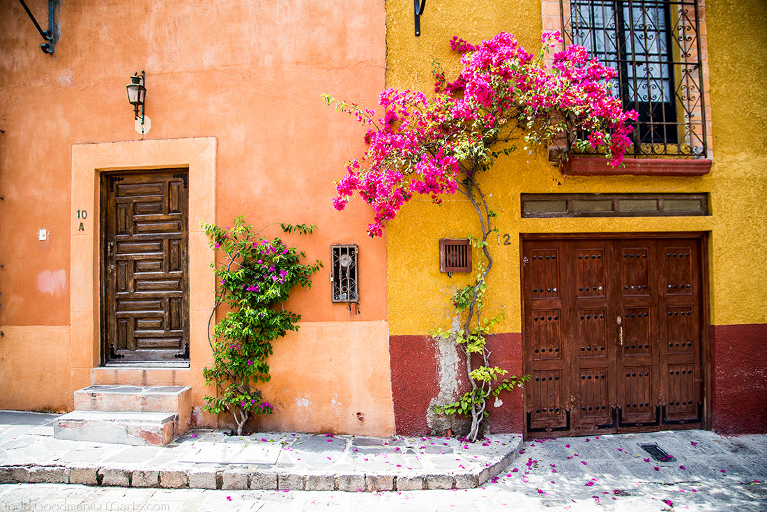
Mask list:
[[[280,224],[285,233],[311,234],[317,226]],[[295,247],[285,246],[280,238],[266,239],[253,233],[242,216],[234,226],[221,228],[202,223],[210,245],[223,253],[223,261],[212,263],[218,279],[216,308],[229,310],[209,338],[213,363],[202,369],[207,385],[216,382],[216,396],[206,396],[206,411],[219,415],[230,411],[242,435],[245,422],[254,415],[272,414],[273,406],[264,401],[258,382],[269,380],[268,357],[272,342],[288,331],[298,331],[301,315],[285,310],[282,303],[295,286],[311,287],[311,274],[322,263],[301,263],[305,256]],[[210,330],[209,330],[210,331]]]

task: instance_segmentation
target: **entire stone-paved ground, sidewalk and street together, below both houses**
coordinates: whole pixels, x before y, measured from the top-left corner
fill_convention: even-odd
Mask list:
[[[103,467],[100,485],[75,484],[4,484],[0,485],[0,512],[5,510],[169,510],[171,512],[207,512],[219,510],[624,510],[650,512],[658,510],[737,510],[756,512],[767,510],[767,435],[743,435],[732,438],[711,431],[665,431],[650,434],[601,435],[585,438],[560,438],[525,441],[504,446],[500,438],[493,438],[488,446],[477,444],[463,448],[456,440],[446,438],[394,438],[380,440],[352,438],[350,436],[312,436],[307,434],[272,434],[273,442],[265,434],[258,443],[245,439],[226,438],[220,433],[197,431],[197,437],[179,440],[175,448],[127,447],[114,444],[70,444],[68,448],[44,435],[48,415],[31,413],[0,413],[0,483],[8,475],[27,475],[28,481],[42,481],[48,475],[67,474],[68,481],[77,481],[77,468]],[[44,427],[44,425],[43,425]],[[283,438],[285,436],[285,438]],[[15,439],[14,439],[15,438]],[[258,452],[263,457],[258,464],[240,464],[237,457],[255,457],[248,451],[251,445],[281,445],[277,464],[266,464],[274,457],[274,448]],[[367,439],[364,443],[360,441]],[[512,438],[518,439],[518,438]],[[198,441],[199,440],[199,441]],[[357,441],[357,444],[355,444]],[[498,441],[497,444],[495,441]],[[71,443],[73,441],[67,441]],[[387,444],[384,444],[386,442]],[[206,443],[206,444],[203,444]],[[323,445],[323,443],[325,445]],[[367,445],[365,444],[367,443]],[[394,443],[394,444],[392,444]],[[401,444],[397,444],[401,443]],[[431,444],[434,443],[434,444]],[[447,445],[443,444],[447,443]],[[210,448],[212,444],[234,447]],[[408,447],[408,445],[410,446]],[[660,460],[653,458],[642,445],[656,445]],[[341,447],[344,448],[341,448]],[[241,451],[239,447],[242,447]],[[408,447],[408,448],[406,448]],[[421,448],[423,447],[423,448]],[[443,447],[443,448],[440,448]],[[518,448],[517,448],[518,447]],[[400,448],[397,450],[397,448]],[[446,451],[452,450],[452,453]],[[354,450],[357,450],[356,452]],[[653,451],[653,449],[650,451]],[[270,451],[272,450],[272,451]],[[408,450],[412,451],[408,453]],[[499,459],[497,466],[490,462],[491,451]],[[185,456],[176,454],[184,451]],[[445,451],[444,454],[439,451]],[[486,452],[482,454],[481,452]],[[499,474],[476,488],[450,490],[377,491],[370,482],[376,477],[392,477],[394,484],[411,482],[404,477],[410,471],[426,475],[473,474],[482,464],[499,467],[502,453],[517,453]],[[474,457],[476,455],[476,457]],[[448,457],[449,456],[449,457]],[[143,458],[142,458],[143,457]],[[186,458],[198,457],[196,462]],[[229,457],[229,462],[206,461],[212,457]],[[304,458],[305,457],[305,458]],[[327,457],[331,457],[328,459]],[[417,457],[417,458],[416,458]],[[481,462],[482,457],[488,457]],[[449,459],[453,461],[449,461]],[[184,460],[182,460],[184,459]],[[300,459],[300,460],[299,460]],[[324,460],[323,460],[324,459]],[[365,460],[367,459],[367,461]],[[447,459],[447,460],[446,460]],[[460,459],[456,461],[455,459]],[[469,459],[474,459],[474,465]],[[10,462],[9,462],[10,461]],[[24,462],[26,461],[26,462]],[[45,464],[43,464],[45,462]],[[151,465],[148,464],[151,462]],[[403,462],[405,464],[403,464]],[[453,462],[455,464],[453,464]],[[37,464],[37,465],[35,465]],[[282,464],[282,465],[280,465]],[[399,464],[399,466],[397,465]],[[410,464],[410,465],[407,465]],[[420,466],[416,466],[420,464]],[[463,467],[460,467],[463,466]],[[8,472],[8,468],[14,468]],[[41,468],[48,469],[41,469]],[[117,472],[108,471],[110,467]],[[173,475],[163,467],[186,467],[189,484],[194,471],[216,474],[216,489],[137,487],[157,481],[173,482]],[[23,471],[20,468],[24,468]],[[408,469],[410,468],[410,469]],[[471,468],[471,470],[469,470]],[[73,471],[73,469],[75,471]],[[235,471],[236,470],[236,471]],[[268,471],[267,471],[268,470]],[[300,470],[300,471],[299,471]],[[464,473],[466,470],[466,473]],[[130,471],[130,476],[126,478]],[[163,473],[166,471],[166,473]],[[187,470],[179,470],[187,471]],[[269,473],[271,471],[271,473]],[[363,471],[367,471],[364,472]],[[250,475],[249,490],[244,487],[242,474]],[[98,471],[96,471],[98,481]],[[254,474],[280,474],[283,482],[291,482],[290,475],[299,475],[304,491],[283,486],[275,489],[254,488]],[[350,490],[311,491],[321,478],[310,480],[310,474],[334,475],[334,488],[341,489],[341,476],[357,475],[357,482],[365,487],[351,485]],[[364,474],[364,479],[359,475]],[[486,473],[486,474],[489,474]],[[228,476],[227,476],[228,475]],[[370,476],[371,478],[368,478]],[[397,477],[396,480],[394,477]],[[403,477],[400,481],[400,477]],[[5,478],[5,480],[3,480]],[[58,477],[64,481],[64,477]],[[194,477],[200,478],[200,477]],[[181,480],[183,483],[183,479]],[[207,481],[212,483],[212,479]],[[258,477],[255,487],[258,487]],[[416,477],[416,481],[420,481]],[[434,482],[438,481],[433,479]],[[311,482],[311,484],[310,484]],[[325,482],[328,482],[327,480]],[[91,482],[93,483],[93,482]],[[226,483],[226,484],[225,484]],[[291,482],[292,483],[292,482]],[[220,485],[219,485],[220,484]],[[351,484],[351,478],[348,484]],[[175,484],[174,484],[175,485]],[[211,485],[212,487],[212,485]],[[271,485],[269,486],[271,487]],[[318,486],[316,488],[328,488]],[[423,484],[418,489],[428,487]],[[309,489],[309,490],[307,490]]]

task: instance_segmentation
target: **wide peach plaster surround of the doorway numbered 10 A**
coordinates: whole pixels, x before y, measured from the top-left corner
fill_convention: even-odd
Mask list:
[[[209,357],[208,317],[215,304],[215,252],[200,221],[216,221],[216,137],[131,140],[72,146],[70,198],[69,365],[74,388],[91,384],[101,365],[100,332],[100,173],[113,170],[189,170],[189,369]],[[82,217],[83,210],[87,217]],[[79,216],[78,216],[79,213]]]

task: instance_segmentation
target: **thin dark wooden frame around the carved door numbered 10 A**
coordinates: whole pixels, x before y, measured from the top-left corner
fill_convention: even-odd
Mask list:
[[[189,365],[189,352],[187,349],[189,348],[189,169],[186,167],[173,167],[173,168],[160,168],[160,169],[152,169],[152,170],[110,170],[110,171],[104,171],[100,173],[100,209],[99,209],[99,223],[100,223],[100,232],[99,232],[99,258],[100,258],[100,264],[99,264],[99,294],[100,294],[100,337],[101,337],[101,349],[100,349],[100,365],[105,366],[107,363],[110,364],[110,366],[114,365],[120,365],[120,363],[124,365],[130,365],[130,366],[137,366],[137,365],[146,365],[146,364],[157,364],[156,361],[126,361],[126,362],[120,362],[119,359],[110,359],[110,344],[109,344],[109,326],[107,323],[107,315],[109,315],[109,311],[107,310],[107,264],[109,263],[108,257],[107,257],[107,199],[108,199],[108,193],[107,193],[107,187],[114,187],[117,181],[119,180],[110,180],[111,177],[114,177],[117,174],[134,174],[134,175],[150,175],[153,173],[184,173],[186,174],[186,177],[183,178],[183,182],[185,184],[184,190],[186,191],[186,210],[187,210],[187,222],[186,222],[186,228],[183,232],[183,242],[185,243],[185,261],[184,265],[186,266],[186,279],[184,279],[183,282],[183,292],[186,293],[186,303],[183,305],[186,308],[186,311],[182,313],[183,317],[183,323],[184,323],[184,330],[185,332],[185,344],[186,348],[182,346],[179,350],[180,352],[186,351],[186,357],[185,358],[179,358],[179,360],[173,361],[169,360],[165,364],[168,366],[186,366]],[[184,345],[184,343],[182,344]],[[122,356],[120,356],[122,357]]]

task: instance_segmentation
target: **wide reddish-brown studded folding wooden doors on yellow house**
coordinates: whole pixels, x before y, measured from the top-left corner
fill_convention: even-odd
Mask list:
[[[704,427],[704,244],[522,240],[528,438]]]

